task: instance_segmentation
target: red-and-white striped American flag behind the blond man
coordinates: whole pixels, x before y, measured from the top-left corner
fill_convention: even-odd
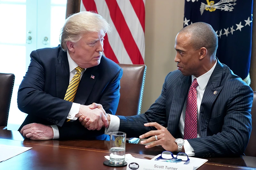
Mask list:
[[[82,0],[81,11],[95,11],[112,26],[103,55],[116,63],[144,64],[145,0]]]

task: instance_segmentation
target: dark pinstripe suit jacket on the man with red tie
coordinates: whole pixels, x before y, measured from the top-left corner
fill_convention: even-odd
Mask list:
[[[170,72],[161,95],[145,114],[118,116],[119,131],[127,133],[127,137],[139,137],[156,130],[145,127],[144,123],[157,122],[167,127],[173,137],[180,136],[178,125],[190,85],[191,76],[183,76],[180,70]],[[216,95],[213,95],[214,91],[217,91]],[[242,154],[252,130],[252,100],[252,89],[228,66],[217,61],[200,107],[198,126],[201,137],[188,139],[195,157]]]

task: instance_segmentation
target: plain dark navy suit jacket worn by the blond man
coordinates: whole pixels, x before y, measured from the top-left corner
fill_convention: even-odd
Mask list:
[[[29,123],[42,123],[57,125],[60,139],[108,140],[105,128],[90,131],[78,120],[66,122],[72,106],[72,102],[63,100],[69,85],[67,52],[60,46],[43,48],[32,51],[30,57],[28,71],[18,91],[18,107],[28,114],[20,129]],[[102,56],[98,66],[84,71],[74,102],[82,105],[100,103],[106,113],[115,115],[122,75],[123,70],[116,63]]]

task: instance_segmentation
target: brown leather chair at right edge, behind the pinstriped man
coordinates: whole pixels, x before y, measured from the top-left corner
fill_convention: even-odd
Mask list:
[[[246,147],[244,154],[246,156],[256,157],[256,92],[253,92],[253,102],[252,102],[252,133],[249,139],[249,143]]]

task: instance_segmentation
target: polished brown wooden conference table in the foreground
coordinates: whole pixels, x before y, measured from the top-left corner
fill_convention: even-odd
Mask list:
[[[103,165],[109,155],[109,141],[84,140],[48,140],[34,141],[25,139],[20,132],[0,129],[0,144],[32,147],[4,162],[0,162],[1,170],[11,169],[86,169],[108,170],[126,169],[125,167],[109,167]],[[146,149],[145,145],[126,143],[126,153],[135,158],[152,159],[164,151],[161,146]],[[0,151],[1,154],[1,151]],[[256,157],[240,156],[236,158],[206,158],[209,161],[199,170],[252,170],[256,168]]]

